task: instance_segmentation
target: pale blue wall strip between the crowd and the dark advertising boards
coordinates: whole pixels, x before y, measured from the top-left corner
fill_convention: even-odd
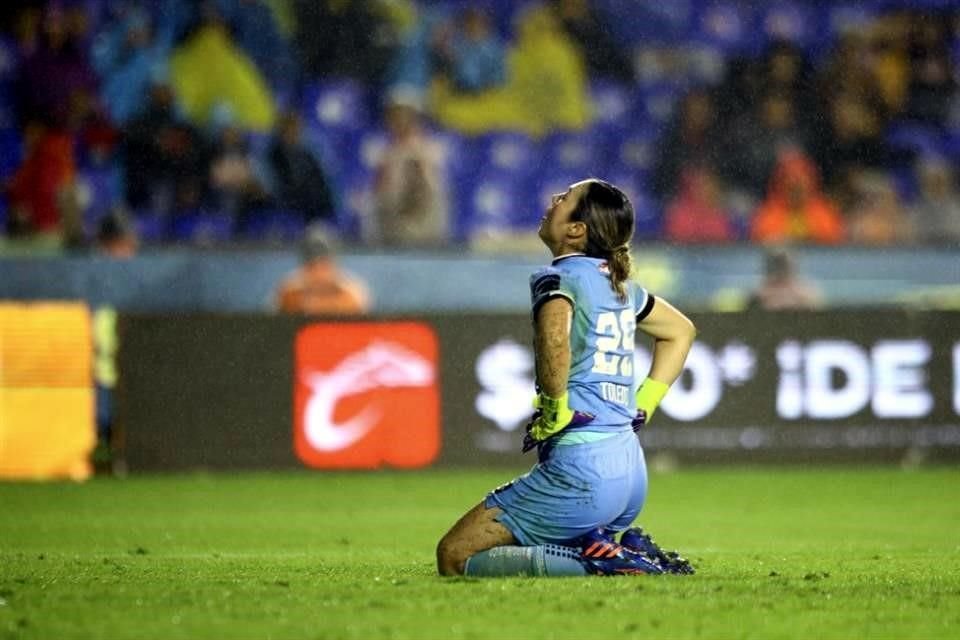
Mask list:
[[[736,309],[759,282],[755,247],[643,245],[638,280],[686,306]],[[800,271],[832,307],[960,307],[960,250],[797,250]],[[343,268],[365,280],[377,313],[525,312],[527,281],[547,254],[347,253]],[[81,299],[123,311],[264,312],[297,265],[295,251],[145,253],[97,257],[0,257],[0,299]]]

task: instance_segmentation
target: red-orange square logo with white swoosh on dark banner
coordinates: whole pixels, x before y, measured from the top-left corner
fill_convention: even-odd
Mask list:
[[[422,467],[440,451],[437,338],[416,322],[314,324],[297,334],[294,448],[307,465]]]

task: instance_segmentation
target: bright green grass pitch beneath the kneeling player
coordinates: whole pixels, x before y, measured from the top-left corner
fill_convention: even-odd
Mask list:
[[[0,484],[2,638],[960,637],[960,472],[654,474],[692,577],[442,579],[493,471]]]

